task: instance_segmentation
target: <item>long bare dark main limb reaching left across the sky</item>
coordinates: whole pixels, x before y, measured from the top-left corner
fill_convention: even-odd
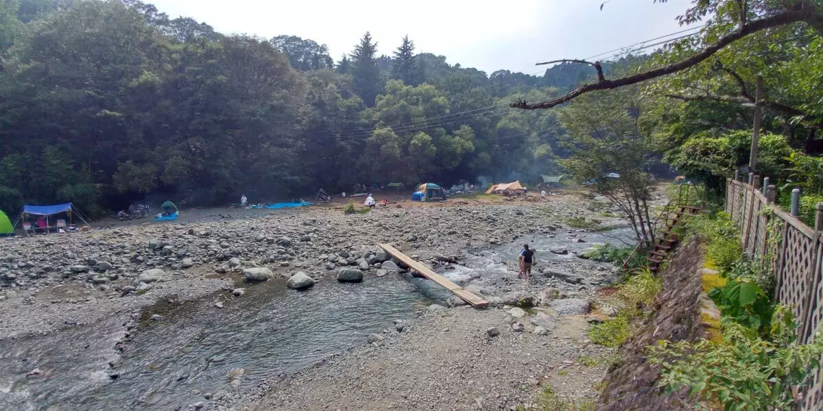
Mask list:
[[[686,70],[687,68],[694,67],[698,63],[703,62],[706,58],[709,58],[712,55],[714,55],[714,53],[717,53],[720,49],[728,46],[729,44],[734,43],[739,39],[742,39],[743,37],[746,37],[747,35],[751,35],[752,33],[756,33],[760,30],[769,29],[771,27],[788,25],[791,23],[795,23],[797,21],[809,20],[817,22],[817,20],[820,19],[821,16],[816,15],[815,7],[802,8],[800,10],[793,10],[776,14],[774,16],[765,17],[760,20],[746,23],[746,25],[742,25],[741,30],[729,33],[728,35],[721,37],[720,39],[718,39],[717,43],[704,48],[702,51],[700,51],[700,53],[696,53],[690,58],[686,58],[684,60],[681,60],[680,62],[668,64],[666,66],[658,67],[647,72],[638,73],[633,76],[625,76],[616,80],[603,80],[597,81],[597,83],[593,84],[582,85],[579,88],[570,91],[566,95],[561,95],[556,99],[546,100],[541,103],[528,104],[526,101],[523,100],[514,101],[511,104],[509,104],[509,107],[525,110],[549,109],[556,105],[570,101],[571,99],[574,99],[579,95],[584,95],[590,91],[616,89],[617,87],[622,87],[624,85],[633,85],[641,81],[657,78],[659,76],[666,76],[668,74],[672,74],[675,72],[681,72],[683,70]]]

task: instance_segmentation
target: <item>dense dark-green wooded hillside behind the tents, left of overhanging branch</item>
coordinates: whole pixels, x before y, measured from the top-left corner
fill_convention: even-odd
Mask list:
[[[556,173],[555,113],[506,104],[586,67],[491,76],[368,33],[335,64],[311,39],[221,35],[137,0],[0,2],[0,209],[220,204],[355,183]],[[556,80],[551,80],[556,79]],[[13,211],[12,211],[13,212]]]

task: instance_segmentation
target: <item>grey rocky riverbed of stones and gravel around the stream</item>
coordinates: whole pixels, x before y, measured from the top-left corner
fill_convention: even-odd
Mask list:
[[[461,397],[455,404],[471,403],[475,407],[477,404],[495,404],[495,407],[527,404],[533,393],[524,390],[517,395],[513,390],[518,384],[525,381],[533,386],[535,379],[538,385],[542,384],[540,381],[546,381],[552,370],[576,364],[575,358],[587,355],[590,350],[599,352],[585,342],[582,336],[585,320],[580,316],[588,312],[593,290],[611,282],[615,274],[611,268],[581,260],[574,253],[584,251],[593,242],[611,241],[614,235],[602,237],[565,227],[570,217],[593,215],[597,211],[602,210],[588,210],[579,201],[565,200],[537,205],[525,201],[491,205],[459,204],[458,201],[433,206],[390,205],[365,215],[345,215],[342,210],[311,207],[255,218],[237,218],[235,213],[235,218],[217,217],[193,223],[146,223],[96,229],[90,233],[5,239],[0,252],[0,309],[3,312],[0,342],[25,343],[26,339],[48,339],[49,333],[83,330],[103,322],[119,324],[122,329],[108,334],[110,353],[103,355],[107,361],[102,361],[107,367],[97,370],[116,384],[119,353],[128,350],[134,333],[141,332],[140,326],[145,324],[142,321],[151,324],[152,319],[161,320],[146,316],[157,302],[184,302],[222,292],[225,297],[215,302],[221,309],[224,302],[230,301],[226,298],[244,298],[251,287],[268,284],[272,278],[282,278],[283,289],[285,279],[291,279],[288,284],[295,289],[322,289],[325,282],[337,279],[408,281],[410,276],[400,273],[402,267],[395,264],[397,261],[388,260],[375,245],[388,242],[480,294],[495,308],[418,310],[421,315],[434,312],[408,322],[407,331],[411,332],[398,332],[389,327],[385,338],[367,340],[364,335],[362,340],[367,345],[335,362],[342,365],[311,367],[295,377],[298,379],[289,380],[289,384],[305,381],[299,378],[318,380],[320,374],[310,376],[312,372],[342,372],[351,376],[362,372],[365,378],[374,373],[354,364],[362,362],[357,358],[369,357],[376,362],[373,367],[388,368],[399,361],[429,367],[429,372],[445,373],[442,376],[453,375],[456,378],[453,384],[444,384],[433,391],[437,394],[433,394],[434,398],[443,401],[446,401],[444,395],[457,390],[458,381],[468,378],[482,381],[476,382],[477,393],[494,395],[494,398],[477,394],[483,398]],[[625,237],[625,232],[615,234]],[[517,279],[514,269],[514,256],[521,242],[536,244],[541,261],[528,285]],[[356,289],[351,292],[356,293]],[[461,305],[458,299],[447,296],[430,298],[442,306]],[[538,311],[514,321],[523,316],[514,316],[508,306],[524,298],[531,299]],[[521,323],[523,330],[517,330],[513,321]],[[545,335],[538,329],[540,321],[549,321],[547,327],[542,327]],[[547,329],[552,328],[549,323],[554,328],[568,330],[565,334],[553,333]],[[566,323],[576,326],[569,328]],[[490,336],[488,329],[495,327],[499,335]],[[453,338],[453,345],[431,353],[431,357],[424,360],[421,347],[428,344],[426,341],[443,339],[441,333]],[[461,346],[465,350],[458,349]],[[387,347],[398,347],[398,351]],[[505,351],[509,352],[508,356]],[[523,356],[518,353],[540,359],[537,362],[529,359],[528,364],[523,364],[526,360],[521,360]],[[474,360],[488,358],[490,363],[472,361],[472,355],[476,356]],[[0,357],[0,361],[3,358]],[[432,368],[434,366],[438,367]],[[472,377],[472,372],[463,372],[461,367],[469,367],[474,373],[479,369],[486,371]],[[26,381],[36,381],[57,371],[38,369],[36,363],[30,364],[30,368],[33,374],[26,376]],[[425,372],[422,368],[418,371]],[[382,390],[388,390],[394,382],[400,384],[400,374],[393,377],[398,380],[387,380]],[[0,376],[3,390],[28,383],[12,376],[5,378],[7,381]],[[308,409],[306,401],[311,400],[304,395],[309,391],[297,387],[284,391],[283,386],[277,384],[279,388],[269,392],[264,388],[277,379],[263,377],[260,380],[254,390],[237,384],[219,395],[220,398],[209,395],[202,398],[202,404],[188,399],[187,403],[193,408],[200,408],[194,407],[195,404],[207,408],[219,404],[230,409],[262,396],[264,401],[277,402],[283,409]],[[420,384],[424,382],[421,380]],[[300,383],[299,386],[306,385]],[[380,389],[370,392],[374,398],[385,397]],[[328,393],[332,398],[332,391]],[[582,391],[578,394],[593,395]],[[421,409],[439,409],[436,400],[424,401],[424,397],[426,395],[410,391],[406,397],[370,403],[374,407],[365,408],[381,409],[380,404],[395,404],[403,409],[417,404]],[[316,404],[323,402],[316,401]],[[366,405],[353,402],[347,409],[360,409],[359,404]]]

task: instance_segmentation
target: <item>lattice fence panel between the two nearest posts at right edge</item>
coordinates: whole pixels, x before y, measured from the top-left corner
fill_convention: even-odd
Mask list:
[[[793,226],[786,227],[786,247],[781,253],[782,264],[778,273],[775,290],[777,302],[792,307],[794,314],[799,318],[803,312],[803,300],[811,284],[807,284],[811,262],[814,259],[815,244],[806,234]]]

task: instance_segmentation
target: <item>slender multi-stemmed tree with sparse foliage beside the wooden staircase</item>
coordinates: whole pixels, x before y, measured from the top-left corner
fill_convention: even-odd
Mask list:
[[[618,207],[638,240],[650,246],[654,234],[647,199],[652,180],[644,166],[653,152],[653,138],[640,123],[644,101],[638,91],[635,86],[593,93],[561,110],[570,157],[560,163],[577,181],[590,183],[593,192]]]

